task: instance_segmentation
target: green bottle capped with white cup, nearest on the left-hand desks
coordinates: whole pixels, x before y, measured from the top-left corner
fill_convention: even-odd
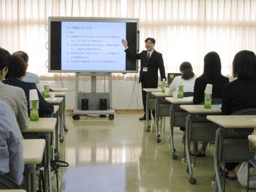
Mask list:
[[[29,108],[30,108],[30,117],[31,121],[39,120],[39,99],[37,95],[37,89],[29,90]]]

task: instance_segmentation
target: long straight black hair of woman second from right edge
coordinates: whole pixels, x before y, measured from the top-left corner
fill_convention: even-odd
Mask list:
[[[204,58],[203,75],[215,77],[222,74],[222,64],[218,53],[212,51]]]

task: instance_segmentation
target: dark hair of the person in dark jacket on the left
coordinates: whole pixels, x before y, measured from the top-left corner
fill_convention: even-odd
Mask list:
[[[18,79],[20,77],[23,77],[25,74],[26,74],[26,65],[24,65],[22,58],[16,55],[12,55],[12,59],[10,61],[8,72],[5,78],[7,80]]]

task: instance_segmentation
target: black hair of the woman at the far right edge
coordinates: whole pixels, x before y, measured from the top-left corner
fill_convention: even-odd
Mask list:
[[[256,80],[256,55],[249,50],[236,53],[233,60],[233,76],[241,80]]]

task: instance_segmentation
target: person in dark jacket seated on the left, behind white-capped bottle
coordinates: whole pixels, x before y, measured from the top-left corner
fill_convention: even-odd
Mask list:
[[[23,77],[26,73],[26,65],[23,60],[17,56],[12,55],[12,62],[10,63],[8,73],[6,75],[6,80],[3,82],[8,85],[13,85],[22,88],[26,94],[26,100],[28,102],[28,112],[30,114],[29,108],[29,90],[37,89],[34,82],[24,82]],[[39,116],[44,117],[45,115],[51,115],[53,113],[53,105],[48,104],[47,101],[42,97],[42,94],[37,89],[37,94],[39,98]]]

